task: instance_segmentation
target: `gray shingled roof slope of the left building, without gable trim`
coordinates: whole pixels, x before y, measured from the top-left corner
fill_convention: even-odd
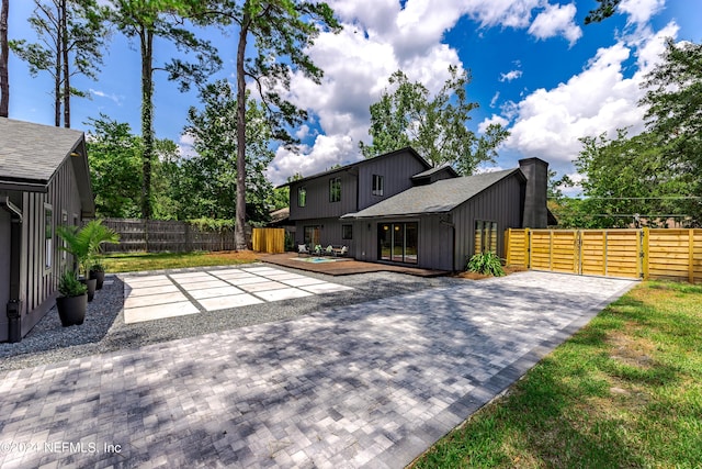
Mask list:
[[[0,179],[47,183],[83,133],[0,118]]]

